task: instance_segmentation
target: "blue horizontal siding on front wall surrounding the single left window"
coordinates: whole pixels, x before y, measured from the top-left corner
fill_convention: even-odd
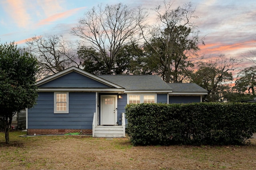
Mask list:
[[[94,92],[70,92],[69,113],[55,114],[54,92],[40,92],[36,106],[28,109],[28,129],[92,129],[94,112]]]

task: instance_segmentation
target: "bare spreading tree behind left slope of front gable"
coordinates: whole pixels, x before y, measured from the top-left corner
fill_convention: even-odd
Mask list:
[[[71,42],[62,35],[35,36],[26,41],[28,50],[34,54],[39,63],[38,78],[55,74],[70,66],[80,66],[80,61],[73,50]]]

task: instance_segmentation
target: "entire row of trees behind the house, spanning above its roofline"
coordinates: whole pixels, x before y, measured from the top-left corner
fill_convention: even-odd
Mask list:
[[[153,24],[147,21],[149,10],[131,8],[122,3],[88,9],[70,33],[76,44],[61,35],[35,36],[27,40],[27,50],[38,59],[38,79],[70,66],[93,74],[157,74],[165,82],[194,82],[208,90],[204,101],[224,102],[255,97],[256,53],[245,59],[254,65],[232,72],[242,61],[223,54],[198,56],[204,45],[194,21],[198,18],[191,3],[172,8],[164,1],[153,10]]]

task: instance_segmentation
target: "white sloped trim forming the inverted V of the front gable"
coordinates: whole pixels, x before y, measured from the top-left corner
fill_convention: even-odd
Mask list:
[[[58,72],[56,74],[53,74],[52,76],[46,77],[46,78],[44,78],[42,80],[39,80],[38,82],[36,82],[36,85],[40,86],[40,85],[42,85],[44,83],[50,82],[51,80],[54,80],[54,79],[59,78],[61,76],[64,76],[64,75],[66,75],[66,74],[68,74],[70,72],[73,72],[73,71],[75,71],[77,73],[80,73],[80,74],[83,74],[84,76],[87,76],[89,78],[92,78],[93,80],[102,82],[103,84],[106,84],[106,85],[109,85],[109,86],[113,86],[115,88],[123,88],[121,86],[118,86],[117,84],[109,82],[109,81],[107,81],[107,80],[105,80],[103,78],[95,76],[94,74],[88,73],[88,72],[86,72],[84,70],[81,70],[80,68],[75,67],[75,66],[72,66],[70,68],[67,68],[66,70],[63,70],[63,71]]]

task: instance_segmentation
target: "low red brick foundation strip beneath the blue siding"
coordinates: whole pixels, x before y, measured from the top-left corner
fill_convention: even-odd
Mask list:
[[[63,135],[82,131],[82,135],[92,135],[92,129],[28,129],[28,135]]]

